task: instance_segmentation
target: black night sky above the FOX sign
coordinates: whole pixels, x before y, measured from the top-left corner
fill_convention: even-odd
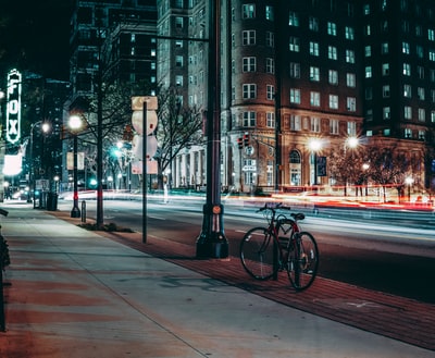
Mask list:
[[[0,76],[12,67],[69,79],[73,0],[0,0]]]

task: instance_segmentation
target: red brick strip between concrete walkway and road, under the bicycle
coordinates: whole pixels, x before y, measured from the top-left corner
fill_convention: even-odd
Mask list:
[[[224,260],[196,259],[194,243],[185,245],[149,235],[147,244],[142,244],[140,233],[108,233],[105,236],[279,304],[435,350],[434,305],[322,277],[316,277],[309,289],[297,293],[291,288],[286,273],[281,273],[277,281],[252,280],[237,257]]]

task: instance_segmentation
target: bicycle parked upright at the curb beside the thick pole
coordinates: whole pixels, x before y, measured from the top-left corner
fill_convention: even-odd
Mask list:
[[[319,249],[314,236],[301,231],[298,221],[303,213],[290,213],[290,218],[278,210],[291,210],[282,203],[266,203],[257,212],[264,212],[268,227],[249,230],[240,243],[241,264],[257,280],[277,279],[278,271],[286,270],[293,287],[308,288],[314,281],[319,268]]]

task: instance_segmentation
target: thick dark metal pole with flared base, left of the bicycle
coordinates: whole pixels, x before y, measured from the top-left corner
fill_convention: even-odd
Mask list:
[[[221,203],[221,0],[210,0],[209,85],[207,111],[207,200],[202,231],[197,238],[198,258],[228,257]]]

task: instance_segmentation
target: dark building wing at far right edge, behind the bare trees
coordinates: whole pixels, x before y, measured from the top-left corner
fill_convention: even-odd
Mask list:
[[[420,188],[435,188],[435,4],[426,0],[363,1],[364,131],[418,163]]]

